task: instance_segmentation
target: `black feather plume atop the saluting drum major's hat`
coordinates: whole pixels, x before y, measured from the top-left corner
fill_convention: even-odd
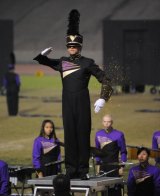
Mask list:
[[[73,9],[69,13],[68,17],[68,30],[67,35],[79,35],[79,21],[80,21],[80,13],[78,10]]]

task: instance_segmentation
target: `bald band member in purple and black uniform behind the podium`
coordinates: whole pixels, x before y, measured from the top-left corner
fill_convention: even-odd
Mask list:
[[[123,165],[119,166],[119,152],[121,153],[121,162],[127,161],[127,150],[124,134],[112,127],[113,120],[111,115],[107,114],[103,117],[102,124],[104,129],[96,132],[95,144],[96,147],[101,149],[104,156],[96,157],[97,161],[97,172],[100,170],[104,172],[110,172],[107,176],[117,177],[123,175]],[[117,165],[116,165],[117,163]],[[114,189],[109,189],[110,195],[121,195],[121,189],[115,187]]]

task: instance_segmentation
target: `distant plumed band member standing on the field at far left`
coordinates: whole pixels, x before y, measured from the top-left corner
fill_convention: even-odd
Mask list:
[[[15,57],[11,53],[11,63],[8,65],[9,71],[5,74],[3,79],[3,86],[7,91],[7,106],[9,116],[16,116],[18,114],[19,90],[20,90],[20,77],[14,72]]]

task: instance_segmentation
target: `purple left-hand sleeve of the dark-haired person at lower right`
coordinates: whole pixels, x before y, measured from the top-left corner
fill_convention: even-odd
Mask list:
[[[132,172],[132,169],[129,170],[128,180],[127,180],[127,190],[128,196],[134,196],[136,189],[136,182]]]

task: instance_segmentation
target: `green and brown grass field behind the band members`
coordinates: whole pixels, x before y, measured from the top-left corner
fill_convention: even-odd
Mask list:
[[[59,75],[36,77],[21,76],[21,98],[19,113],[26,115],[43,114],[51,115],[56,127],[62,127],[61,101],[43,102],[48,100],[61,100],[61,79]],[[126,143],[129,145],[144,145],[151,147],[152,133],[160,129],[160,113],[136,112],[140,109],[160,108],[160,102],[155,101],[159,95],[143,94],[119,94],[113,95],[100,113],[93,111],[94,101],[98,98],[100,84],[92,78],[89,85],[92,104],[92,133],[91,144],[94,146],[95,132],[102,128],[101,119],[104,114],[113,115],[114,127],[125,133]],[[83,100],[82,100],[83,101]],[[30,165],[32,144],[38,136],[41,122],[44,117],[8,117],[6,98],[0,97],[0,159],[9,164]],[[57,136],[63,141],[63,130],[56,131]],[[63,150],[62,150],[63,151]],[[63,152],[62,152],[63,153]]]

